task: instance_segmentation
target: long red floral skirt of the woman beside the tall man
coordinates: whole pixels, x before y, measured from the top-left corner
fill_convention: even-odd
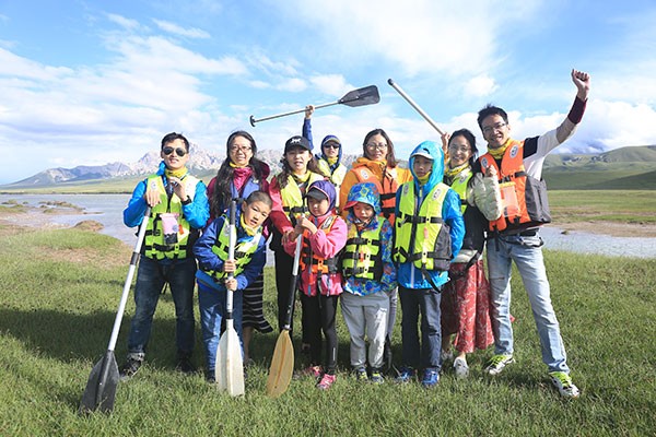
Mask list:
[[[458,352],[471,353],[494,343],[490,319],[490,283],[483,260],[465,270],[466,263],[450,267],[455,277],[442,291],[442,335],[456,334]],[[458,277],[459,276],[459,277]]]

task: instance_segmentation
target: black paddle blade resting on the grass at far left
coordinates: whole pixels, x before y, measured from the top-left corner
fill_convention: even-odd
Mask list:
[[[80,401],[79,413],[85,414],[96,410],[103,413],[112,412],[118,378],[118,365],[116,364],[114,351],[107,351],[103,359],[93,366],[91,375],[89,375],[86,389]]]

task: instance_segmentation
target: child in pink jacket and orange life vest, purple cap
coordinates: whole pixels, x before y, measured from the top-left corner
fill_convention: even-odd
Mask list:
[[[309,217],[298,220],[284,250],[294,255],[295,240],[303,235],[300,259],[300,288],[303,317],[309,341],[311,366],[305,374],[318,379],[317,388],[327,390],[335,382],[337,331],[335,315],[342,293],[338,253],[347,244],[347,223],[335,213],[337,193],[327,180],[309,186],[305,194]],[[321,331],[326,336],[326,359],[321,367]]]

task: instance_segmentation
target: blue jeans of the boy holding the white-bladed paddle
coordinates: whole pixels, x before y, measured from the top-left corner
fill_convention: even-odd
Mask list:
[[[221,338],[221,322],[226,314],[226,291],[210,288],[198,283],[198,308],[200,310],[200,329],[202,332],[202,344],[206,350],[206,368],[209,374],[214,373],[216,367],[216,349]],[[238,290],[233,293],[233,324],[239,343],[242,343],[242,356],[244,354],[244,340],[242,339],[242,305],[244,292]]]

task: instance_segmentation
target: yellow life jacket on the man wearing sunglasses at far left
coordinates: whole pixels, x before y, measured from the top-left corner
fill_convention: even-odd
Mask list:
[[[185,191],[188,193],[189,199],[194,200],[196,194],[196,186],[199,180],[191,175],[187,175],[183,178],[185,184]],[[191,246],[198,237],[198,229],[192,229],[189,223],[185,220],[183,214],[183,203],[180,199],[173,193],[171,198],[166,193],[164,188],[164,181],[162,176],[153,175],[147,180],[148,189],[157,189],[160,192],[160,203],[151,209],[151,217],[148,227],[145,229],[145,236],[143,240],[144,256],[147,258],[162,260],[168,259],[183,259],[190,256]],[[162,217],[160,214],[174,213],[178,214],[178,234],[177,243],[168,244],[164,239],[164,231],[162,226]]]

